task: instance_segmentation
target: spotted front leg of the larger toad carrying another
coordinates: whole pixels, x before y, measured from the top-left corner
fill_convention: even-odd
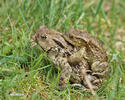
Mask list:
[[[55,59],[55,63],[57,65],[61,66],[61,75],[59,78],[59,86],[61,88],[64,88],[66,83],[68,83],[70,76],[71,76],[71,72],[72,72],[72,68],[69,65],[68,61],[66,58],[62,58],[62,57],[57,57]]]

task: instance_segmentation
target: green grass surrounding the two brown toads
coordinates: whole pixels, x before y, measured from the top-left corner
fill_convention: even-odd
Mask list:
[[[85,100],[83,90],[62,91],[56,85],[60,71],[39,47],[31,49],[31,35],[41,25],[66,32],[85,29],[102,43],[109,56],[110,77],[96,90],[98,99],[125,99],[124,0],[1,0],[1,100]],[[121,35],[123,34],[123,35]],[[118,43],[121,45],[117,45]],[[118,49],[117,49],[118,48]],[[23,96],[13,96],[13,93]]]

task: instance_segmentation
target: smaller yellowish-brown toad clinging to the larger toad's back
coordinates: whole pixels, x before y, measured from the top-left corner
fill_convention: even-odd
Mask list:
[[[104,77],[107,74],[108,57],[99,40],[84,30],[78,29],[70,29],[63,37],[77,48],[77,52],[72,55],[74,57],[69,58],[70,62],[78,63],[84,58],[91,66],[93,75]]]

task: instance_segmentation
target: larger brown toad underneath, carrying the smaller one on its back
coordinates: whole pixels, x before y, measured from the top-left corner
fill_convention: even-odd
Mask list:
[[[82,52],[80,50],[77,52],[72,44],[68,44],[69,42],[67,43],[67,41],[65,41],[62,33],[53,29],[48,29],[46,26],[41,26],[32,36],[32,39],[40,45],[56,66],[61,67],[62,72],[59,79],[60,87],[65,87],[68,80],[78,84],[81,82],[85,83],[82,70],[84,68],[88,70],[89,65],[86,59],[79,59],[84,53],[83,49],[81,49]],[[92,75],[89,75],[89,80],[93,81]]]

